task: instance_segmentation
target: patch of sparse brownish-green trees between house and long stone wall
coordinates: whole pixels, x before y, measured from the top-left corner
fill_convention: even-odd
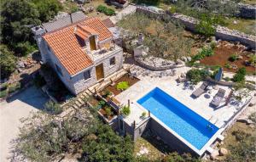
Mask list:
[[[192,39],[183,36],[183,26],[177,22],[164,22],[148,18],[144,14],[131,14],[118,25],[125,30],[126,46],[131,46],[131,41],[138,33],[143,33],[144,42],[148,50],[148,56],[159,57],[177,61],[184,56],[189,56]]]

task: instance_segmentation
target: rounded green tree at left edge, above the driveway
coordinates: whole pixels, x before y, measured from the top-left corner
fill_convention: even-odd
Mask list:
[[[14,53],[10,52],[8,47],[0,46],[0,68],[1,68],[1,78],[9,77],[9,75],[15,71],[16,59]]]

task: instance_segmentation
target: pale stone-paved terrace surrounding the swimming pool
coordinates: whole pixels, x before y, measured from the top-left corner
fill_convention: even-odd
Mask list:
[[[160,89],[167,92],[173,98],[176,98],[189,109],[194,110],[197,114],[210,120],[218,127],[223,126],[226,121],[230,120],[230,117],[250,98],[249,96],[243,98],[240,103],[232,101],[227,106],[224,106],[223,101],[217,109],[214,109],[210,107],[209,103],[212,101],[213,96],[218,92],[218,88],[221,87],[226,90],[225,97],[229,95],[231,89],[229,87],[216,86],[217,88],[212,88],[211,92],[204,93],[199,98],[191,98],[191,93],[194,92],[197,87],[200,87],[202,82],[196,85],[194,89],[191,89],[183,83],[178,85],[175,81],[178,75],[185,73],[187,70],[189,70],[188,67],[179,68],[177,69],[177,74],[172,76],[172,70],[149,71],[139,66],[134,66],[131,69],[131,73],[137,75],[141,81],[138,81],[135,85],[125,90],[125,92],[121,92],[116,96],[119,102],[123,104],[127,104],[128,99],[131,100],[131,115],[125,118],[125,122],[132,125],[135,120],[139,125],[139,122],[142,120],[140,116],[144,111],[148,111],[140,106],[137,103],[137,100],[154,89],[154,87],[160,87]],[[210,98],[205,98],[205,94],[209,94]]]

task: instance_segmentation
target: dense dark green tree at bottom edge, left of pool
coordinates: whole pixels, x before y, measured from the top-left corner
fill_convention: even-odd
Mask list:
[[[120,137],[107,125],[98,126],[94,137],[87,137],[82,143],[82,148],[81,161],[133,161],[131,137]]]

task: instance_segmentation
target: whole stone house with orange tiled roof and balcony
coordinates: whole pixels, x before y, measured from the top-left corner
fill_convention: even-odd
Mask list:
[[[123,66],[123,49],[99,18],[85,18],[47,32],[32,28],[44,64],[49,64],[67,89],[78,94]]]

